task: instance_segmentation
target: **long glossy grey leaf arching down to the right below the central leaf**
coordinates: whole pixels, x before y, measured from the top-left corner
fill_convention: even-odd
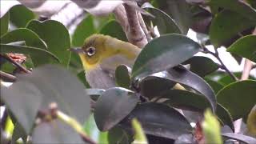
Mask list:
[[[180,84],[190,86],[194,90],[201,93],[210,102],[211,109],[216,110],[216,98],[214,90],[198,75],[186,70],[184,67],[178,66],[167,71],[163,71],[157,74],[153,74],[160,78],[170,79],[173,82],[178,82]]]

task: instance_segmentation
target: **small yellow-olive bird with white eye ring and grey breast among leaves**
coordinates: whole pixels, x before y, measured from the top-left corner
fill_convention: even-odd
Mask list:
[[[104,34],[93,34],[82,47],[70,50],[79,55],[90,87],[98,89],[116,86],[116,68],[120,65],[131,68],[141,51],[138,46]]]

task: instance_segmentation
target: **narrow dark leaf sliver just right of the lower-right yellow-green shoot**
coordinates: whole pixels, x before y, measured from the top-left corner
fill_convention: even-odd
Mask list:
[[[216,114],[224,125],[230,126],[230,128],[234,131],[233,118],[231,117],[230,112],[226,110],[225,107],[217,104]]]

